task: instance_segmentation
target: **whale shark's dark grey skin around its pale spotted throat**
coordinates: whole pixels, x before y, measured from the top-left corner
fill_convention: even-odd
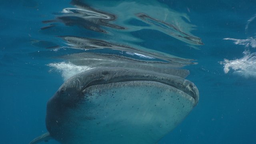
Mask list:
[[[132,84],[130,82],[132,82]],[[146,85],[145,85],[145,82],[147,82]],[[123,83],[125,83],[125,84],[123,84]],[[117,84],[117,85],[115,85],[115,84]],[[130,69],[130,68],[94,68],[92,70],[88,70],[86,72],[77,74],[77,75],[73,76],[72,78],[68,79],[64,84],[62,84],[62,86],[58,89],[56,94],[54,94],[54,96],[52,96],[52,98],[50,98],[50,100],[47,103],[47,112],[46,112],[46,127],[47,127],[47,130],[49,133],[46,133],[46,134],[34,139],[32,142],[30,142],[30,144],[36,144],[40,141],[46,141],[51,138],[59,141],[62,144],[68,144],[68,143],[75,144],[75,143],[80,143],[80,142],[81,143],[101,142],[100,140],[87,141],[82,138],[83,136],[84,137],[88,136],[90,134],[90,131],[93,130],[93,129],[90,129],[90,131],[87,130],[86,128],[88,126],[85,125],[84,123],[94,122],[94,120],[96,122],[97,116],[96,116],[96,114],[87,114],[86,110],[84,113],[81,114],[80,113],[81,107],[82,108],[86,107],[86,109],[88,109],[88,110],[89,109],[97,110],[98,106],[96,106],[95,108],[91,108],[88,106],[90,106],[92,100],[97,101],[97,99],[100,99],[100,94],[98,97],[91,99],[91,97],[94,97],[93,94],[95,93],[95,91],[97,91],[98,93],[101,93],[101,91],[99,90],[100,88],[102,88],[102,91],[104,91],[104,90],[111,90],[112,88],[116,88],[120,85],[122,85],[122,86],[120,86],[120,88],[124,87],[124,86],[132,86],[134,88],[139,88],[139,86],[145,87],[145,86],[147,86],[147,84],[150,87],[151,86],[154,87],[154,86],[158,86],[158,85],[160,85],[162,87],[162,85],[163,85],[164,87],[166,87],[164,89],[167,89],[170,87],[174,90],[177,90],[178,93],[182,93],[182,94],[184,93],[183,95],[187,95],[186,97],[188,97],[187,99],[189,99],[189,100],[186,99],[186,101],[184,101],[184,102],[190,103],[191,110],[198,103],[198,100],[199,100],[198,89],[192,82],[185,80],[183,78],[169,75],[169,74],[162,74],[162,73],[157,73],[157,72],[136,70],[136,69]],[[106,85],[107,88],[104,88],[104,85]],[[96,86],[96,89],[94,88],[95,86]],[[111,88],[108,88],[108,87],[111,87]],[[93,88],[93,90],[91,90],[92,88]],[[138,89],[138,90],[140,90],[140,89]],[[157,90],[157,88],[156,88],[156,90]],[[94,93],[91,91],[94,91]],[[118,100],[122,100],[122,98],[118,99]],[[154,102],[154,101],[155,100],[153,100],[152,102]],[[108,104],[112,104],[112,102],[110,102]],[[164,104],[162,104],[162,105],[164,106]],[[132,106],[132,103],[131,103],[131,106]],[[184,114],[184,117],[190,112],[190,109],[188,110],[188,112],[186,114]],[[77,112],[76,110],[78,110],[79,112]],[[149,109],[149,111],[153,111],[153,109]],[[80,118],[80,117],[78,117],[76,114],[74,114],[76,112],[79,115],[81,114],[82,118],[86,122],[84,122],[84,123],[81,122],[81,125],[80,125],[80,121],[77,120],[77,118]],[[129,112],[134,112],[134,111],[131,110]],[[116,114],[116,113],[114,113],[114,114]],[[116,114],[116,115],[118,115],[118,114]],[[128,115],[128,114],[126,114],[126,115]],[[73,118],[74,116],[75,116],[75,118]],[[132,113],[131,113],[131,116],[132,116]],[[102,118],[102,116],[100,116],[100,118]],[[132,117],[130,119],[132,120]],[[181,119],[183,119],[183,118],[181,118]],[[110,120],[111,120],[111,118],[110,118]],[[97,121],[97,122],[104,123],[104,121],[102,121],[102,120]],[[153,121],[153,122],[155,122],[155,121]],[[90,124],[90,125],[92,125],[92,124]],[[96,125],[96,126],[98,126],[98,125]],[[74,127],[77,128],[77,131],[79,131],[78,133],[81,134],[81,136],[80,135],[77,136],[77,134],[74,134],[74,132],[76,132],[76,128],[74,128]],[[83,127],[85,127],[85,128],[83,129]],[[102,129],[104,129],[104,128],[105,127],[103,126]],[[168,132],[170,130],[167,129],[167,131],[166,130],[165,131]],[[150,129],[150,131],[151,131],[151,129]],[[124,131],[122,131],[122,134],[123,134],[123,132]],[[147,131],[143,131],[143,129],[142,129],[141,133],[143,133],[143,132],[146,133]],[[164,132],[164,134],[166,134],[166,132]],[[116,133],[116,134],[119,134],[119,133]],[[104,135],[108,136],[108,133],[106,133],[104,131]],[[101,135],[99,135],[99,136],[101,136]],[[160,134],[160,136],[164,136],[164,135]],[[145,142],[144,142],[144,140],[142,142],[154,144],[160,139],[160,136],[158,136],[154,140],[151,140],[154,142],[151,142],[151,141],[147,142],[146,140],[145,140]],[[78,138],[76,138],[76,137],[78,137]],[[110,137],[111,137],[111,135],[110,135]],[[106,139],[102,138],[102,140],[104,140],[103,143],[106,142]],[[118,140],[119,139],[117,138],[116,141],[118,141]],[[120,142],[120,140],[118,142]],[[109,142],[116,142],[116,141],[110,140]],[[116,143],[118,143],[118,142],[116,142]],[[141,141],[134,141],[134,142],[137,143],[137,142],[141,142]]]

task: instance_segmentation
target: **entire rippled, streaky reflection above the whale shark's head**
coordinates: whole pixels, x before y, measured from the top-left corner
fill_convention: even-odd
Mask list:
[[[42,33],[64,40],[47,48],[57,48],[54,51],[71,48],[90,50],[90,52],[82,51],[78,52],[79,54],[74,52],[73,55],[60,56],[60,59],[65,57],[66,63],[52,63],[49,66],[62,72],[64,69],[59,66],[63,67],[64,64],[66,67],[71,64],[74,67],[90,68],[121,66],[186,77],[188,71],[181,72],[174,69],[196,64],[193,59],[180,58],[153,50],[155,48],[140,46],[143,39],[136,35],[143,35],[143,30],[152,30],[153,35],[149,35],[152,38],[154,32],[161,32],[169,36],[170,40],[179,40],[190,47],[202,45],[201,39],[191,34],[196,26],[190,23],[184,13],[171,10],[168,6],[155,1],[108,3],[108,1],[72,0],[70,4],[74,7],[63,8],[61,12],[55,13],[54,20],[43,21],[48,26],[41,28]],[[72,33],[75,30],[80,32]],[[92,56],[96,57],[93,61]],[[177,74],[178,72],[181,74]]]

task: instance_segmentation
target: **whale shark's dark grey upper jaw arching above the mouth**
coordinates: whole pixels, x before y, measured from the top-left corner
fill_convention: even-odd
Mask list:
[[[70,78],[67,80],[58,90],[58,92],[64,93],[67,91],[70,93],[76,91],[79,93],[78,99],[82,99],[83,93],[86,92],[86,88],[99,84],[120,83],[129,81],[148,81],[159,82],[166,84],[178,90],[181,90],[191,96],[194,99],[194,106],[198,103],[199,93],[196,86],[189,80],[173,76],[171,74],[162,74],[158,72],[152,72],[148,70],[138,70],[132,68],[95,68],[89,71],[82,72],[75,76],[76,78]],[[63,94],[62,94],[63,95]],[[70,98],[72,96],[72,98]],[[70,99],[74,100],[74,94],[67,96],[68,103]],[[79,100],[76,101],[79,101]]]

